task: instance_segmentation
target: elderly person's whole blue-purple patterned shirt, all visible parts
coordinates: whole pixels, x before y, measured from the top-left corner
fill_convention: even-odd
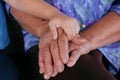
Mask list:
[[[81,30],[90,27],[109,11],[120,15],[120,0],[46,0],[61,12],[78,20]],[[116,2],[116,4],[113,4]],[[102,26],[101,26],[102,27]],[[36,45],[39,39],[23,30],[25,50]],[[36,41],[33,41],[36,40]],[[116,68],[120,69],[120,42],[99,48],[103,55]]]

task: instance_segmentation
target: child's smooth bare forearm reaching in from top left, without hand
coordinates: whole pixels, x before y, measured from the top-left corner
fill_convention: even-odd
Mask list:
[[[29,13],[31,15],[40,17],[42,19],[50,19],[54,15],[61,14],[53,6],[49,5],[44,0],[4,0],[12,7]]]

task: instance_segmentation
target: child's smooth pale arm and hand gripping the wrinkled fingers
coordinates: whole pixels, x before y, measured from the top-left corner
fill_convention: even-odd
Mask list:
[[[44,0],[4,0],[12,7],[21,10],[33,16],[49,20],[49,29],[53,39],[57,39],[57,28],[62,28],[69,40],[72,40],[78,34],[80,27],[75,18],[69,17]],[[32,5],[32,6],[31,6]],[[66,63],[66,61],[64,62]]]

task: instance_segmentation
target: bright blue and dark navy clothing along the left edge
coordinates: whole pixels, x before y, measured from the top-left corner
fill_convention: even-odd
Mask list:
[[[10,42],[2,1],[0,0],[0,80],[18,80],[18,71],[15,63],[1,53],[1,50],[7,47]]]

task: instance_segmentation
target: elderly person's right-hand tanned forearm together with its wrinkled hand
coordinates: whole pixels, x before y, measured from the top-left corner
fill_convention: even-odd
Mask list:
[[[102,27],[101,27],[102,26]],[[120,40],[120,16],[110,12],[72,40],[71,56],[67,65],[73,66],[80,55]]]

